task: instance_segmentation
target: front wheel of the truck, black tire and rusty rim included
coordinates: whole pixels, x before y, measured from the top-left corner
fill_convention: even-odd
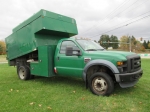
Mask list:
[[[92,93],[96,95],[109,96],[114,90],[112,78],[103,72],[91,75],[88,84]]]

